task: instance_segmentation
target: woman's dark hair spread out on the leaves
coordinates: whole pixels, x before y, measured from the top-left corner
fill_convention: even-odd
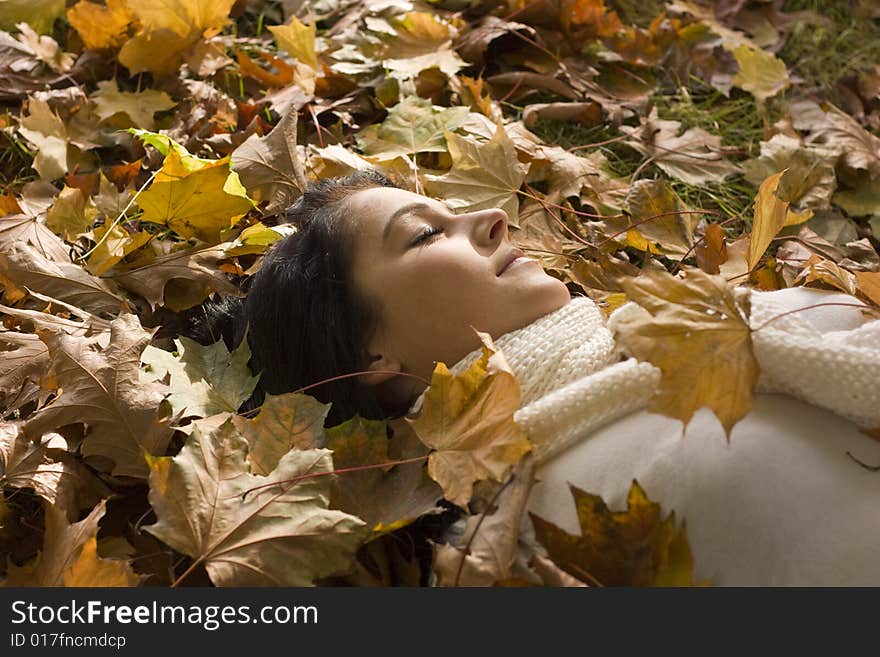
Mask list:
[[[356,231],[344,201],[372,187],[396,185],[372,171],[311,183],[282,218],[297,232],[266,253],[246,297],[206,302],[204,311],[193,315],[187,333],[203,344],[222,336],[233,349],[247,331],[251,370],[260,373],[260,380],[239,411],[256,408],[267,393],[291,392],[367,368],[367,344],[378,326],[380,306],[354,284]],[[338,379],[304,393],[332,402],[328,426],[355,413],[368,419],[388,416],[362,377]]]

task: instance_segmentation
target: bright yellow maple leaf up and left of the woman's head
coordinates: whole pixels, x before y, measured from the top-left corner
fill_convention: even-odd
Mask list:
[[[233,226],[253,201],[230,170],[229,156],[195,171],[191,166],[177,149],[168,151],[153,184],[137,198],[141,219],[168,226],[181,237],[217,242],[220,231]]]

